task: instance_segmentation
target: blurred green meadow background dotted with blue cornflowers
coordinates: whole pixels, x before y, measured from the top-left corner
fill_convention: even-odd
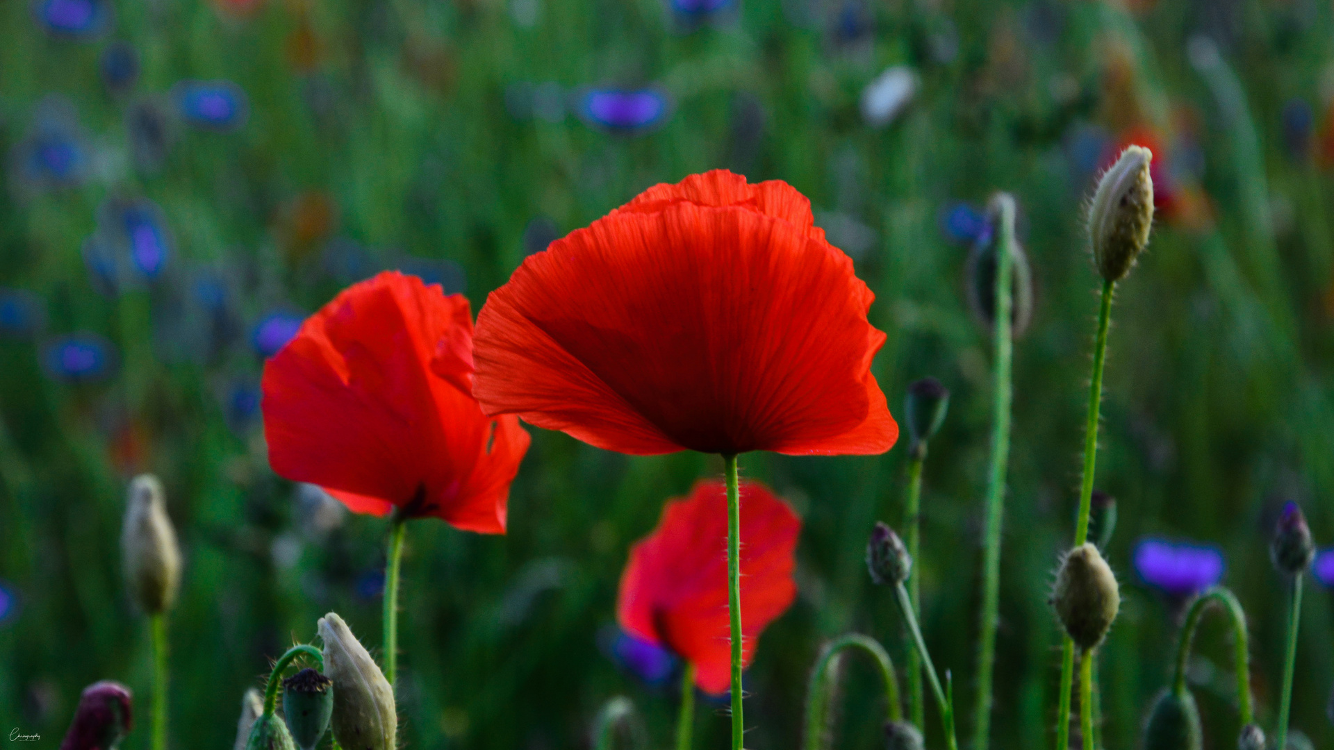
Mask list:
[[[325,611],[379,643],[388,522],[271,472],[265,355],[384,268],[475,314],[552,239],[726,167],[808,195],[852,256],[896,416],[914,379],[954,394],[916,570],[960,735],[991,395],[964,275],[987,196],[1015,195],[1035,298],[1015,347],[992,737],[1053,746],[1047,595],[1099,290],[1083,210],[1131,140],[1155,151],[1158,216],[1118,290],[1106,375],[1098,486],[1119,503],[1125,602],[1099,667],[1103,745],[1137,746],[1170,678],[1181,607],[1137,571],[1145,538],[1222,554],[1271,726],[1282,502],[1334,544],[1331,99],[1321,0],[0,0],[0,730],[55,747],[79,690],[115,678],[136,693],[125,747],[148,746],[149,634],[117,547],[141,471],[163,478],[185,552],[173,746],[227,747],[241,693]],[[676,682],[626,663],[616,583],[663,500],[722,464],[530,431],[507,536],[408,530],[402,745],[586,747],[622,694],[666,746]],[[874,458],[742,456],[804,520],[798,601],[747,673],[750,747],[796,745],[823,639],[867,633],[903,663],[864,544],[875,520],[902,522],[906,452],[904,435]],[[1293,725],[1330,747],[1334,603],[1309,586]],[[1209,747],[1235,743],[1230,670],[1206,618],[1189,675]],[[847,665],[838,746],[882,742],[872,678]],[[698,746],[726,741],[720,707],[700,710]]]

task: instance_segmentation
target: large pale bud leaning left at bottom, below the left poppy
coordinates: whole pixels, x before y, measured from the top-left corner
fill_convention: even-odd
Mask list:
[[[320,618],[324,674],[334,681],[334,738],[348,750],[394,750],[394,689],[335,613]]]

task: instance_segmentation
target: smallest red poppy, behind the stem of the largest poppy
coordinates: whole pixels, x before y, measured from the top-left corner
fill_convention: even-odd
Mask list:
[[[743,482],[740,570],[742,659],[750,665],[759,634],[796,597],[792,569],[802,522],[764,486]],[[663,643],[695,665],[695,685],[726,693],[731,679],[727,611],[727,490],[695,484],[671,500],[658,528],[630,550],[616,606],[620,626]]]

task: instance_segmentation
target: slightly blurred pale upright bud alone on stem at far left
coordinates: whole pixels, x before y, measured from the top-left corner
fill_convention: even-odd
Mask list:
[[[180,587],[180,547],[167,518],[163,484],[152,474],[129,483],[120,554],[129,593],[144,613],[171,609]]]

